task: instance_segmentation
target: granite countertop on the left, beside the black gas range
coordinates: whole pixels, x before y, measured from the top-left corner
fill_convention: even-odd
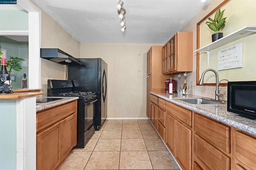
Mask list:
[[[46,103],[36,103],[36,112],[39,112],[45,109],[50,109],[51,107],[56,107],[58,105],[63,105],[65,103],[69,103],[79,99],[79,97],[37,97],[36,99],[47,99],[47,98],[51,98],[51,99],[59,98],[60,100],[55,100],[55,101],[46,102]]]

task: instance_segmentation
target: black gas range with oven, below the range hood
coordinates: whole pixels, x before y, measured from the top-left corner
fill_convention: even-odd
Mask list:
[[[79,97],[77,105],[77,145],[84,148],[94,133],[97,95],[93,92],[76,91],[79,86],[71,80],[48,80],[48,96]]]

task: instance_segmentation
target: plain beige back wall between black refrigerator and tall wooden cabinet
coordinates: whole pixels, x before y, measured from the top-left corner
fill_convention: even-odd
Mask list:
[[[146,118],[147,51],[152,45],[81,43],[81,58],[108,64],[108,118]]]

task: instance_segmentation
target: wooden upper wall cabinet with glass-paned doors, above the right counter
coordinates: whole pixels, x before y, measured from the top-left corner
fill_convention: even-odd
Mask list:
[[[193,71],[193,33],[177,32],[163,46],[163,74],[185,71]]]

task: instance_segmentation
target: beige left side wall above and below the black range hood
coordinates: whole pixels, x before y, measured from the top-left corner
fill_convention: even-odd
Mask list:
[[[62,51],[79,58],[80,42],[73,38],[60,24],[58,24],[51,16],[49,16],[42,8],[41,10],[41,47],[42,48],[59,48]],[[52,61],[41,59],[42,75],[41,83],[44,89],[44,95],[47,95],[48,79],[66,79],[65,65],[54,63]]]

